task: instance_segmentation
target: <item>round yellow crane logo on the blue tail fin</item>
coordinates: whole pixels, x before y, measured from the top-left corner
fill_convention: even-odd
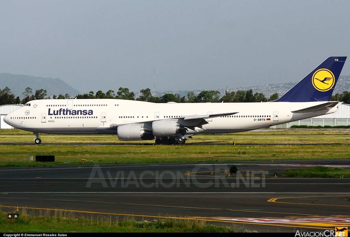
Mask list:
[[[334,86],[335,77],[331,71],[318,69],[312,76],[312,84],[319,91],[328,91]]]

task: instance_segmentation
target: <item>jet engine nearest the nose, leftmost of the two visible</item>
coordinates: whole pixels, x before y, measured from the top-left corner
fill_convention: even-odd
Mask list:
[[[127,124],[118,126],[118,139],[120,141],[152,140],[152,132],[144,129],[144,124]]]

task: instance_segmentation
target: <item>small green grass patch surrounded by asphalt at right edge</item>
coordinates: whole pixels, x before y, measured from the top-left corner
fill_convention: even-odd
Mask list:
[[[317,166],[300,170],[286,170],[283,176],[309,178],[350,178],[350,170]]]

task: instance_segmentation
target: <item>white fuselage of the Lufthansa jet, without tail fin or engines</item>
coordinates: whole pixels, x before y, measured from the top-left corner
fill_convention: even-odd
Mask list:
[[[4,120],[13,127],[38,133],[117,134],[112,127],[141,122],[152,124],[152,121],[161,119],[176,121],[179,117],[190,115],[237,112],[235,115],[207,118],[208,124],[193,132],[235,133],[337,110],[335,106],[324,112],[291,112],[321,103],[324,102],[150,103],[120,99],[43,99],[28,102]]]

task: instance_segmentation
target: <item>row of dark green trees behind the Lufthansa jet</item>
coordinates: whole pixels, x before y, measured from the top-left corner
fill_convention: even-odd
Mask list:
[[[71,99],[68,94],[58,96],[54,95],[52,98],[47,96],[47,91],[44,89],[35,90],[30,87],[27,87],[25,91],[22,93],[22,98],[19,96],[15,97],[12,93],[11,89],[5,87],[3,90],[0,89],[0,105],[3,104],[25,104],[28,101],[32,101],[35,99]],[[140,90],[140,95],[138,98],[135,98],[135,93],[133,91],[129,91],[128,88],[120,87],[117,93],[113,90],[109,90],[106,93],[99,90],[96,94],[93,91],[89,93],[77,95],[77,99],[128,99],[128,100],[136,100],[136,101],[147,101],[153,103],[167,103],[167,102],[176,102],[176,103],[232,103],[232,102],[267,102],[274,101],[279,98],[278,93],[271,95],[269,98],[266,98],[263,93],[253,93],[253,90],[238,90],[228,92],[220,97],[220,92],[217,90],[204,90],[200,92],[197,96],[193,91],[189,91],[186,96],[180,97],[179,94],[165,94],[163,96],[153,96],[151,89],[142,89]],[[337,93],[331,96],[330,101],[343,101],[345,104],[350,104],[350,92],[343,91],[342,94]]]

